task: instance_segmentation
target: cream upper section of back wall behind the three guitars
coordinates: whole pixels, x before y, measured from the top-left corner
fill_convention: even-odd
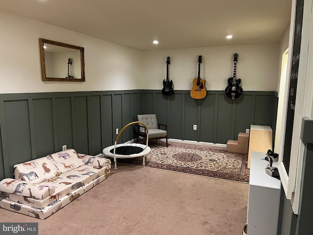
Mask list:
[[[198,76],[198,55],[202,55],[201,78],[207,90],[224,90],[233,75],[233,54],[239,54],[237,78],[244,91],[275,91],[279,78],[279,44],[229,47],[200,47],[143,52],[143,89],[161,89],[166,78],[166,57],[171,57],[169,78],[174,89],[190,90]]]

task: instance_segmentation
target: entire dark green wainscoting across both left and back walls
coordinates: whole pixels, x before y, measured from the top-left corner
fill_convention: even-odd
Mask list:
[[[208,91],[201,100],[189,91],[164,96],[158,90],[0,94],[0,179],[13,177],[13,165],[61,151],[62,145],[96,155],[114,143],[115,129],[137,114],[155,113],[168,124],[171,139],[226,143],[250,124],[275,130],[277,93],[245,92],[230,100]],[[198,130],[193,130],[193,125]],[[118,142],[132,140],[135,126]]]

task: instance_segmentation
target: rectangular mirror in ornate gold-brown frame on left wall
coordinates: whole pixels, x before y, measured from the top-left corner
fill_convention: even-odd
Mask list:
[[[85,82],[84,47],[40,38],[43,81]]]

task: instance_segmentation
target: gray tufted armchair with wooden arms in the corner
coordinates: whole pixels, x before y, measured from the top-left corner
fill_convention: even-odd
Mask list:
[[[148,127],[148,135],[149,140],[158,140],[158,139],[166,139],[166,147],[168,146],[167,143],[167,126],[165,124],[157,123],[156,115],[155,114],[144,114],[144,115],[137,115],[138,121],[141,121],[146,124]],[[165,127],[165,130],[160,129],[160,126]],[[144,127],[138,126],[138,133],[137,133],[137,141],[139,136],[143,136],[145,141],[147,139],[147,135],[145,132]]]

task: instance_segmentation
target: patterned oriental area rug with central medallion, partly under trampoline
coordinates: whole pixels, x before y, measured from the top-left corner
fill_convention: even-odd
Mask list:
[[[224,149],[202,145],[149,142],[151,152],[146,166],[209,176],[232,181],[249,182],[247,154],[230,153]],[[142,157],[117,159],[117,163],[142,165]]]

